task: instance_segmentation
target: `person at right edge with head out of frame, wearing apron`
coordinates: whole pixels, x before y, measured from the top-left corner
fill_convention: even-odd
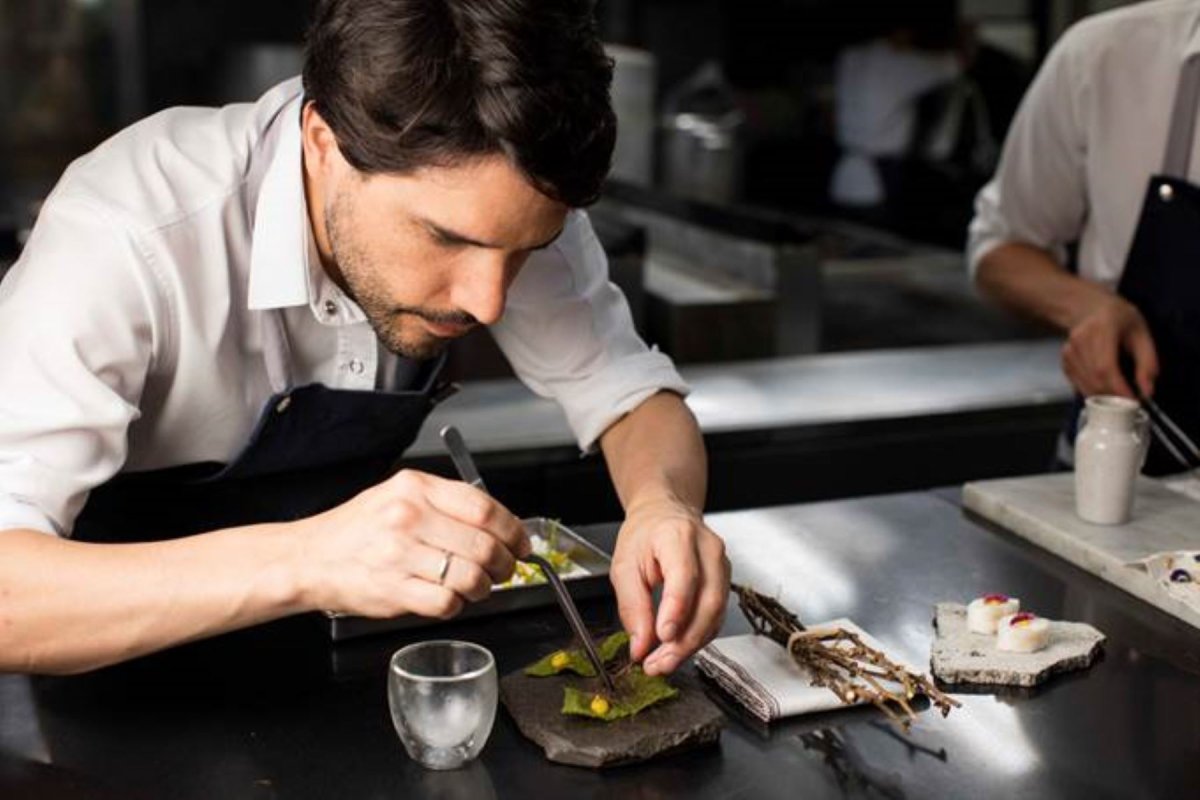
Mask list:
[[[1200,5],[1157,0],[1079,23],[1018,112],[968,252],[985,295],[1066,333],[1062,366],[1080,395],[1153,397],[1193,439],[1198,102]],[[1148,474],[1182,468],[1154,443]]]

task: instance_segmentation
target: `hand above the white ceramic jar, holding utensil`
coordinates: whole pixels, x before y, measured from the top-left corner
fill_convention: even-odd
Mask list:
[[[1121,374],[1122,351],[1133,359],[1138,387],[1150,397],[1158,378],[1154,339],[1141,312],[1114,295],[1070,329],[1062,348],[1062,369],[1085,397],[1120,395],[1132,398],[1134,392]]]

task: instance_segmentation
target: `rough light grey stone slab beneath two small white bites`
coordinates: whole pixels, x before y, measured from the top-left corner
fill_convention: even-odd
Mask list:
[[[996,649],[996,637],[967,630],[967,608],[937,603],[934,674],[947,684],[1037,686],[1055,673],[1090,667],[1100,652],[1104,634],[1084,622],[1050,620],[1050,642],[1037,652]]]

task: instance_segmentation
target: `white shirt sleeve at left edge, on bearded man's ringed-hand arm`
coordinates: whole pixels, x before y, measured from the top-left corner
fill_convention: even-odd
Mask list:
[[[0,283],[0,530],[70,534],[124,464],[162,321],[133,239],[52,197]]]

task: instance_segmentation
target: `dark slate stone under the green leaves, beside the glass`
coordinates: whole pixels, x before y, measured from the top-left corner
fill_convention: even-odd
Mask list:
[[[576,766],[617,766],[712,745],[720,739],[725,717],[704,696],[700,681],[688,673],[690,667],[671,676],[679,690],[678,697],[613,722],[562,712],[564,686],[594,682],[576,675],[530,678],[522,670],[510,673],[500,680],[500,699],[521,733],[538,744],[550,760]]]

